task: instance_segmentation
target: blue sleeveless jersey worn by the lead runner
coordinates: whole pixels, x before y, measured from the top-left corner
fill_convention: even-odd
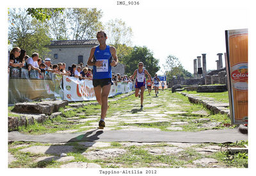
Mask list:
[[[107,45],[105,50],[100,50],[99,46],[97,46],[94,52],[94,60],[102,61],[102,65],[101,67],[93,66],[93,79],[112,78],[110,65],[112,61],[112,56],[109,45]]]

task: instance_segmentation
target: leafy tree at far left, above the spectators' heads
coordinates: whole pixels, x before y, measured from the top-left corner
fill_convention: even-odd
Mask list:
[[[46,23],[31,18],[25,9],[10,9],[8,25],[8,39],[12,47],[20,47],[31,56],[38,52],[40,57],[46,57],[49,49],[49,30]]]

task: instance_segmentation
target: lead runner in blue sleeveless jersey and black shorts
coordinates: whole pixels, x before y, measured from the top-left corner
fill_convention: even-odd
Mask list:
[[[93,87],[97,102],[101,105],[99,129],[105,127],[104,119],[108,111],[108,94],[111,88],[111,67],[118,63],[116,49],[106,45],[108,36],[104,31],[97,33],[97,40],[100,45],[93,47],[90,52],[87,65],[93,66]]]

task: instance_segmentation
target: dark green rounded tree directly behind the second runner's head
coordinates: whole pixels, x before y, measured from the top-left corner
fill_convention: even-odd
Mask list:
[[[134,70],[138,68],[140,61],[144,63],[144,67],[152,76],[160,69],[158,65],[159,60],[154,58],[152,51],[146,46],[135,46],[129,54],[124,56],[123,63],[125,64],[125,73],[129,75],[133,74]]]

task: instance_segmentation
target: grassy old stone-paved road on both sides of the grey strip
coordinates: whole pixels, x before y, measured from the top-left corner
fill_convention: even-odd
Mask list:
[[[111,105],[103,131],[205,131],[227,129],[226,115],[211,115],[198,104],[170,90],[148,95],[144,108],[134,95],[109,101]],[[70,108],[68,111],[72,111]],[[97,129],[100,110],[79,118],[67,118],[80,125],[56,133],[88,132]],[[81,118],[83,116],[83,118]],[[62,116],[62,118],[65,118]],[[221,120],[222,119],[222,120]],[[79,137],[79,136],[78,136]],[[77,138],[78,138],[77,137]],[[232,168],[221,159],[220,143],[75,141],[40,143],[9,141],[9,168]],[[246,167],[246,166],[239,166]]]

